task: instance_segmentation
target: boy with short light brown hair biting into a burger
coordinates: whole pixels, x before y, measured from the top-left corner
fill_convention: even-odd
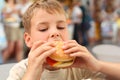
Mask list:
[[[74,40],[68,40],[66,16],[56,0],[37,0],[23,16],[24,39],[30,48],[28,59],[16,64],[7,80],[103,80],[97,73],[97,60]],[[58,69],[46,64],[56,49],[53,41],[64,41],[66,54],[76,57],[69,68]],[[69,54],[71,53],[71,54]],[[82,69],[82,68],[87,68]],[[91,72],[94,70],[95,72]]]

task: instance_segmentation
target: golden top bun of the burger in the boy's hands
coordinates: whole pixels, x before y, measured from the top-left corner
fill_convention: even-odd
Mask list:
[[[56,53],[53,53],[49,57],[55,61],[70,61],[73,60],[73,57],[70,57],[67,54],[64,54],[64,51],[62,49],[63,42],[62,41],[55,41],[56,44]]]

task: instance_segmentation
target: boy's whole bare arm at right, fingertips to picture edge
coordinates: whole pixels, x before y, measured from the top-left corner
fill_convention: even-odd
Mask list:
[[[106,75],[120,79],[120,64],[108,63],[97,60],[86,47],[79,45],[76,41],[70,40],[63,47],[66,54],[76,57],[72,67],[87,68],[91,71],[102,72]]]

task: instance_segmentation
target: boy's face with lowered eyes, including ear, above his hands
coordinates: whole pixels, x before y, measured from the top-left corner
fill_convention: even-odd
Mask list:
[[[25,33],[25,42],[32,47],[35,41],[66,41],[68,30],[64,14],[49,14],[45,10],[37,9],[31,19],[30,34]]]

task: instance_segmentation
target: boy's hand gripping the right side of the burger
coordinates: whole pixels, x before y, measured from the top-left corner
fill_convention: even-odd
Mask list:
[[[91,55],[86,47],[79,45],[76,41],[69,40],[65,42],[63,49],[66,54],[76,57],[72,67],[99,70],[99,61]]]

